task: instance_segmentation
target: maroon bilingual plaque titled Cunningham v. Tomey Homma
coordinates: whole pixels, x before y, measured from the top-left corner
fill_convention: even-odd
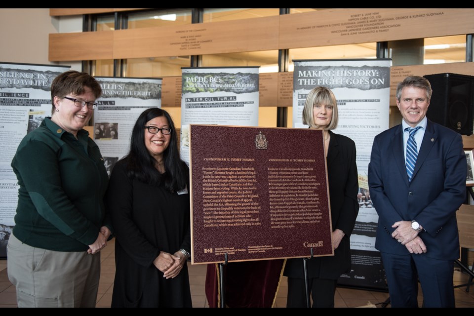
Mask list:
[[[333,255],[322,131],[191,125],[190,153],[193,264]]]

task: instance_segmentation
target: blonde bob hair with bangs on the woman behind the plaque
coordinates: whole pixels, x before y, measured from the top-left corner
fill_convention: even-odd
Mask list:
[[[326,87],[313,88],[306,98],[305,107],[303,109],[303,124],[309,125],[312,128],[318,128],[315,124],[315,118],[313,114],[313,107],[315,104],[332,105],[332,118],[324,130],[334,129],[337,127],[339,116],[337,114],[337,102],[334,93],[331,89]]]

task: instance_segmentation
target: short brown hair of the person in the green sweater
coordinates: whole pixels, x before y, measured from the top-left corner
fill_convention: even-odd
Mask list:
[[[54,97],[62,99],[70,93],[79,95],[84,92],[84,87],[90,88],[96,99],[102,94],[102,88],[99,82],[87,73],[79,73],[78,71],[70,70],[56,77],[53,83],[51,83],[52,113],[54,113],[55,109]]]

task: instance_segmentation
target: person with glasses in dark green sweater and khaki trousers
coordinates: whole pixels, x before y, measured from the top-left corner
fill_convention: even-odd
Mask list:
[[[7,265],[19,307],[95,306],[99,251],[111,235],[102,200],[108,177],[82,128],[101,93],[86,73],[56,77],[51,118],[25,136],[12,160],[20,188]]]

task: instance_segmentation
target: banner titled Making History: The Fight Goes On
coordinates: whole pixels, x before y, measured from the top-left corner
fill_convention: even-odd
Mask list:
[[[294,61],[293,126],[303,125],[308,92],[316,86],[330,88],[336,96],[337,134],[356,143],[359,178],[359,214],[351,235],[352,272],[339,284],[386,288],[380,254],[375,249],[378,215],[368,188],[367,170],[374,137],[389,128],[390,59]]]

